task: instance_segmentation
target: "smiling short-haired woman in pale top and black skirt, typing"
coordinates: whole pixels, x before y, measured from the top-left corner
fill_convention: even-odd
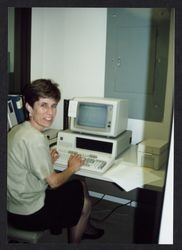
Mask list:
[[[84,183],[68,181],[80,169],[83,159],[72,155],[65,171],[57,173],[53,163],[59,157],[49,150],[42,131],[51,126],[60,100],[57,84],[38,79],[23,91],[29,118],[8,133],[7,210],[14,226],[27,230],[69,228],[68,242],[99,238],[102,229],[88,223],[91,201]]]

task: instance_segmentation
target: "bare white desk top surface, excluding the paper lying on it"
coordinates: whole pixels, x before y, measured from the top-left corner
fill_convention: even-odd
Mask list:
[[[115,161],[116,163],[113,164],[113,166],[105,173],[102,175],[98,175],[95,173],[89,173],[86,172],[84,170],[79,170],[78,172],[76,172],[76,175],[80,175],[80,176],[84,176],[84,177],[89,177],[89,178],[93,178],[96,180],[102,180],[102,181],[106,181],[106,182],[113,182],[113,179],[109,178],[109,174],[111,173],[111,171],[113,171],[114,169],[116,169],[118,167],[118,164],[133,164],[133,165],[137,165],[137,145],[131,145],[129,147],[129,149],[127,149],[123,154],[120,155],[120,157],[118,159],[116,159]],[[62,171],[63,168],[61,168],[60,165],[56,165],[54,166],[55,170],[58,171]],[[140,168],[140,167],[138,167]],[[152,181],[150,183],[145,183],[144,185],[142,185],[143,188],[146,189],[152,189],[152,190],[162,190],[163,185],[164,185],[164,179],[165,179],[165,169],[160,169],[160,170],[154,170],[154,169],[149,169],[149,168],[140,168],[140,170],[146,171],[148,173],[151,173],[155,176],[158,177],[158,180]],[[119,176],[119,178],[122,179],[122,173],[121,176]],[[118,183],[116,183],[118,184]],[[121,186],[122,187],[122,186]]]

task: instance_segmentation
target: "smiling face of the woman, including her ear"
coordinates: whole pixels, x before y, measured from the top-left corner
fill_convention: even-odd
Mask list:
[[[52,98],[39,98],[31,107],[28,103],[26,108],[29,111],[30,122],[33,127],[42,131],[51,126],[56,116],[57,102]]]

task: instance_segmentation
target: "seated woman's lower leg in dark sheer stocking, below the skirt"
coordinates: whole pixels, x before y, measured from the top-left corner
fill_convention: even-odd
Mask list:
[[[83,209],[78,223],[69,229],[69,242],[70,243],[79,243],[82,239],[82,235],[85,232],[88,225],[88,218],[91,213],[91,200],[89,198],[87,186],[84,182],[83,190],[84,190],[84,203]]]

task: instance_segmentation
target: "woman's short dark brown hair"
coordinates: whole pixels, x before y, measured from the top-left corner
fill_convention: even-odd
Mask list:
[[[24,102],[33,107],[39,98],[53,98],[56,102],[61,99],[61,92],[58,84],[50,79],[37,79],[25,85],[23,89]]]

